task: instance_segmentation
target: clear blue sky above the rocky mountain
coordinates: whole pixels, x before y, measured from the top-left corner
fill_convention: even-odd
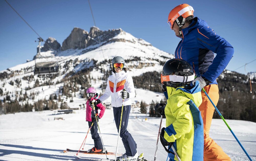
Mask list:
[[[74,27],[90,30],[93,26],[86,0],[8,0],[43,39],[54,37],[62,42]],[[90,1],[97,27],[101,30],[122,28],[156,48],[174,53],[180,41],[167,24],[170,10],[187,3],[194,16],[207,21],[217,34],[233,45],[235,53],[227,66],[234,70],[256,59],[256,1]],[[0,1],[0,71],[33,59],[37,35],[2,0]],[[247,65],[256,71],[256,61]],[[244,68],[237,72],[245,73]]]

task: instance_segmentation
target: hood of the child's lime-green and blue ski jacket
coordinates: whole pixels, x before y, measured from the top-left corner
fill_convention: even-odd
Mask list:
[[[201,88],[199,85],[199,82],[196,81],[196,83],[192,86],[186,86],[186,87],[166,87],[168,97],[175,95],[175,94],[184,94],[187,98],[191,99],[197,107],[199,107],[202,103],[202,95],[201,95]]]

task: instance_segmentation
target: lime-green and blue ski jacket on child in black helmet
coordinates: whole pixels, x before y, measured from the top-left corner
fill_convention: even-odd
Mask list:
[[[201,88],[193,86],[166,87],[166,128],[164,138],[173,146],[181,160],[202,161],[204,155],[204,124],[198,109],[202,102]],[[171,150],[172,151],[172,150]],[[177,160],[172,153],[170,160]]]

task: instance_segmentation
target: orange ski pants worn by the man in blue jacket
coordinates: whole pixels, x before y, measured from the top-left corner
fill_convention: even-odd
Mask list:
[[[214,102],[214,104],[217,105],[219,100],[218,85],[211,84],[205,86],[204,89],[211,98],[212,102]],[[202,91],[201,94],[202,104],[199,106],[199,110],[201,112],[201,116],[204,122],[204,161],[230,161],[230,157],[225,152],[223,152],[222,148],[209,136],[211,120],[215,108],[205,95],[204,91]]]

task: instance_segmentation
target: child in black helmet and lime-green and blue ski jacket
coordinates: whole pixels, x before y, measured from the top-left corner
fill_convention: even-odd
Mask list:
[[[166,116],[166,128],[161,130],[160,141],[168,152],[169,161],[177,160],[172,145],[182,161],[204,160],[203,120],[198,109],[202,96],[198,81],[191,84],[194,77],[192,67],[184,60],[170,59],[163,66],[161,82],[168,99],[166,106],[164,103],[156,105],[156,112]]]

